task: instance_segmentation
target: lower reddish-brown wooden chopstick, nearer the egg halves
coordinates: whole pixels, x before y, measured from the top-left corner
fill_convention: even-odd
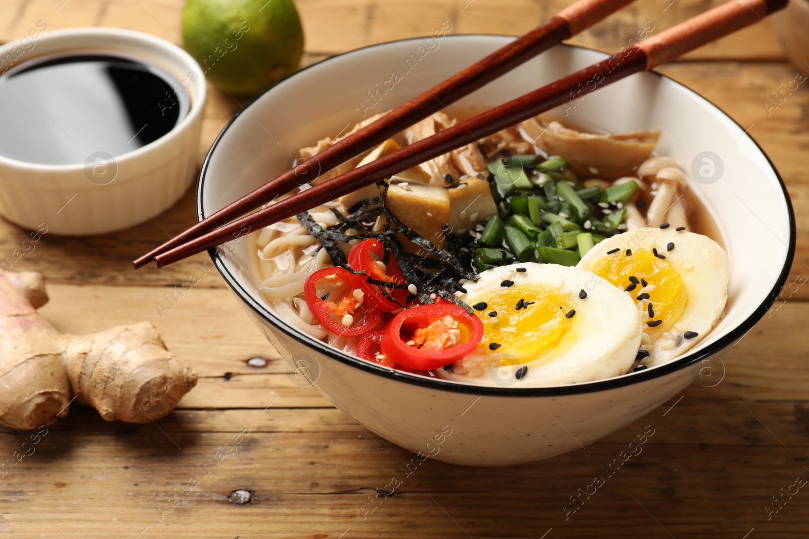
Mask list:
[[[629,74],[654,68],[694,48],[756,23],[773,11],[786,6],[787,0],[731,0],[712,10],[671,27],[657,36],[616,54],[604,61],[581,69],[499,107],[495,107],[460,124],[444,129],[411,145],[404,146],[367,165],[329,179],[280,200],[256,213],[203,234],[155,257],[163,267],[224,242],[249,234],[253,230],[293,217],[309,208],[325,204],[338,196],[388,178],[411,166],[446,154],[452,149],[479,140],[532,116],[546,112],[561,103],[582,97],[600,86],[625,78]],[[576,91],[574,93],[574,90]]]

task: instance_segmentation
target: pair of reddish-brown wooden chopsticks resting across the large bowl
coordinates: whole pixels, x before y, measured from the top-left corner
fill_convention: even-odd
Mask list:
[[[660,32],[657,36],[651,36],[623,53],[581,69],[538,90],[444,129],[432,137],[404,146],[255,213],[239,217],[273,200],[275,196],[289,191],[292,187],[308,183],[314,179],[313,173],[317,174],[316,171],[326,171],[380,144],[392,134],[430,116],[455,99],[460,99],[542,50],[604,19],[610,12],[628,3],[627,0],[579,0],[532,32],[455,74],[430,91],[404,103],[366,128],[345,137],[341,142],[308,159],[295,169],[265,183],[248,196],[222,208],[171,241],[135,260],[133,266],[142,267],[154,261],[157,267],[163,267],[325,204],[411,166],[477,142],[482,137],[546,112],[561,103],[579,99],[601,86],[630,74],[646,71],[671,61],[694,48],[756,23],[766,15],[786,6],[787,0],[730,0]],[[301,177],[306,180],[301,181]]]

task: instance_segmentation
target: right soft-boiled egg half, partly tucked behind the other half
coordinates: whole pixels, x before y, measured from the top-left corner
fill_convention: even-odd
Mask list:
[[[648,366],[693,347],[725,308],[730,263],[722,247],[702,234],[630,230],[597,244],[578,267],[604,277],[636,303],[643,323],[638,358]]]

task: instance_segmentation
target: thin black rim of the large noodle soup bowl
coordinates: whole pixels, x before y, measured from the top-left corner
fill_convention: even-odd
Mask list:
[[[476,39],[489,39],[489,38],[501,39],[503,37],[516,39],[515,36],[505,36],[502,34],[457,34],[454,36],[445,36],[445,37],[452,40],[468,39],[470,37]],[[231,120],[228,120],[227,124],[225,124],[225,126],[222,128],[222,131],[219,132],[219,134],[217,135],[216,139],[214,140],[214,143],[210,146],[208,153],[205,154],[205,160],[202,162],[199,175],[199,183],[197,185],[197,219],[201,221],[203,218],[205,218],[205,213],[203,212],[202,209],[202,193],[205,191],[206,174],[208,172],[208,167],[214,154],[214,150],[217,148],[219,142],[222,140],[222,137],[224,137],[225,133],[227,133],[227,130],[231,128],[231,125],[235,122],[235,120],[239,118],[239,116],[241,116],[241,114],[245,112],[248,109],[248,107],[250,107],[258,99],[263,97],[267,92],[271,91],[275,86],[284,84],[286,81],[289,81],[296,75],[303,73],[303,71],[311,69],[316,65],[321,65],[324,64],[325,62],[333,61],[340,57],[349,56],[351,54],[358,53],[368,48],[384,47],[387,44],[400,44],[409,41],[418,41],[424,39],[425,39],[424,36],[420,36],[409,38],[406,40],[388,41],[387,43],[371,44],[366,47],[355,48],[346,53],[336,54],[332,57],[324,59],[323,61],[319,61],[316,64],[308,65],[303,69],[299,69],[299,71],[296,71],[294,74],[291,74],[289,77],[283,79],[282,81],[276,82],[273,85],[268,86],[267,88],[265,88],[265,90],[261,91],[258,95],[250,99],[248,103],[244,104],[241,107],[241,109],[235,113],[235,115],[231,118]],[[609,56],[608,53],[604,53],[602,51],[595,50],[593,48],[580,47],[578,45],[570,45],[564,43],[558,44],[557,46],[560,45],[564,47],[578,48],[586,51],[599,53],[604,55],[604,57]],[[672,83],[676,84],[677,86],[680,86],[685,91],[690,92],[691,94],[701,99],[705,103],[708,103],[709,106],[714,107],[714,109],[720,112],[722,116],[725,116],[728,120],[731,120],[735,125],[737,125],[740,129],[744,131],[744,128],[737,121],[731,118],[731,116],[728,116],[726,112],[722,111],[720,107],[711,102],[709,99],[705,98],[705,96],[698,94],[696,91],[693,91],[692,89],[688,88],[688,86],[684,86],[683,84],[680,84],[680,82],[676,82],[674,79],[667,77],[664,74],[654,71],[654,69],[650,70],[648,73],[654,74],[659,78],[665,78],[671,81]],[[619,375],[616,377],[604,378],[601,380],[587,381],[582,383],[526,387],[526,388],[515,388],[513,386],[501,387],[497,385],[476,385],[464,382],[444,380],[443,378],[437,377],[423,377],[418,375],[412,375],[409,373],[402,373],[393,368],[383,367],[381,365],[371,363],[370,361],[359,359],[358,357],[349,356],[349,354],[346,354],[345,352],[337,350],[337,348],[329,346],[328,343],[324,343],[318,339],[315,339],[309,335],[305,335],[302,332],[297,331],[296,329],[294,329],[294,327],[284,322],[281,318],[278,318],[276,315],[269,312],[269,310],[266,310],[264,306],[260,305],[260,303],[252,297],[252,295],[248,292],[248,290],[245,289],[244,286],[242,286],[242,284],[239,283],[239,280],[236,278],[236,276],[234,276],[230,272],[230,270],[228,270],[226,264],[224,263],[224,260],[220,256],[219,251],[217,249],[215,248],[209,249],[208,255],[210,256],[211,260],[213,260],[214,266],[216,266],[219,274],[222,276],[222,279],[224,279],[225,282],[228,284],[228,286],[230,286],[230,288],[236,294],[239,295],[239,298],[242,301],[244,301],[245,304],[247,304],[253,311],[255,311],[256,314],[258,314],[261,318],[263,318],[265,322],[269,322],[278,330],[286,333],[286,335],[290,335],[294,339],[297,339],[300,342],[306,344],[307,347],[314,348],[316,351],[323,353],[325,356],[328,356],[333,360],[340,361],[343,364],[348,364],[349,366],[354,368],[359,368],[368,373],[373,373],[381,377],[392,379],[394,381],[401,381],[408,384],[420,385],[422,387],[426,387],[431,390],[452,391],[455,393],[477,394],[481,396],[497,395],[501,397],[540,397],[540,396],[553,397],[561,395],[584,394],[584,393],[594,393],[597,391],[614,390],[627,385],[638,384],[646,380],[666,376],[667,374],[674,373],[682,368],[697,363],[697,361],[705,360],[709,358],[709,356],[713,356],[717,352],[722,351],[722,349],[729,346],[736,339],[739,339],[744,335],[746,335],[748,331],[750,331],[752,327],[756,325],[756,322],[758,322],[767,313],[769,308],[773,306],[773,304],[777,300],[778,295],[781,293],[781,289],[784,287],[784,284],[786,284],[786,280],[790,274],[790,269],[792,267],[792,263],[794,260],[795,239],[796,239],[795,215],[794,210],[792,208],[790,195],[786,189],[786,184],[784,183],[784,180],[781,178],[781,175],[778,173],[775,165],[773,164],[772,159],[769,158],[769,155],[766,154],[764,149],[761,148],[759,143],[753,137],[751,137],[747,131],[744,131],[743,136],[748,137],[748,139],[752,141],[754,145],[756,145],[756,148],[767,160],[767,163],[769,164],[770,168],[775,174],[778,183],[781,185],[781,194],[784,198],[784,202],[786,203],[787,217],[789,218],[790,224],[790,241],[789,245],[787,246],[786,259],[784,260],[784,265],[783,267],[781,267],[781,273],[778,276],[775,285],[765,297],[765,300],[762,301],[758,307],[756,307],[756,310],[754,310],[748,318],[743,320],[743,322],[741,322],[739,326],[733,328],[726,335],[722,336],[714,343],[710,343],[708,346],[699,350],[698,352],[685,354],[684,356],[680,356],[667,364],[662,364],[654,368],[645,368],[635,373],[625,373],[623,375]]]

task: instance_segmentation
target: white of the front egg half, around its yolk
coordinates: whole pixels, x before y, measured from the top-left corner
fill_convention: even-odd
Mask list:
[[[526,271],[517,272],[518,267]],[[508,343],[503,343],[497,353],[478,347],[455,362],[451,370],[438,369],[439,377],[479,385],[532,387],[616,377],[632,367],[641,342],[642,324],[628,294],[578,267],[516,263],[482,272],[477,283],[464,284],[467,293],[460,299],[474,305],[502,288],[503,280],[514,281],[515,292],[527,284],[558,291],[575,310],[575,324],[561,335],[553,350],[539,358],[523,358],[518,364],[504,367],[500,360],[509,358]],[[579,297],[582,290],[587,293],[583,299]],[[515,373],[522,367],[527,367],[527,372],[518,380]]]

